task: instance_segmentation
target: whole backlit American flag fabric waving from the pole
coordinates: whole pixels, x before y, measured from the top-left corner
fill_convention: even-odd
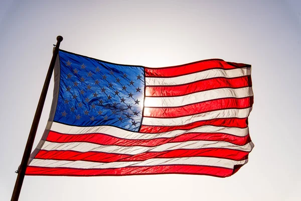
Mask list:
[[[149,68],[60,50],[48,124],[26,175],[203,174],[247,163],[251,66]]]

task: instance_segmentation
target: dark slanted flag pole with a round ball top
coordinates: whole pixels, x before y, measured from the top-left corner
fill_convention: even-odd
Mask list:
[[[49,69],[45,78],[45,82],[44,82],[44,86],[41,92],[41,96],[39,99],[39,103],[37,106],[37,110],[36,110],[36,114],[33,120],[33,124],[32,127],[30,129],[29,132],[29,136],[27,139],[27,143],[26,143],[26,147],[24,150],[24,154],[23,154],[23,158],[22,158],[22,162],[21,165],[19,167],[19,171],[18,171],[18,176],[16,179],[16,183],[15,183],[15,187],[14,187],[14,191],[12,194],[12,199],[11,201],[17,201],[19,199],[20,196],[20,192],[21,192],[21,188],[22,188],[22,184],[23,184],[23,180],[24,180],[24,176],[25,176],[25,172],[26,172],[26,168],[27,168],[27,163],[31,154],[31,150],[33,148],[33,144],[34,144],[34,140],[36,137],[36,133],[37,133],[37,129],[38,129],[38,125],[40,122],[40,118],[41,118],[41,114],[42,114],[42,110],[43,110],[43,106],[45,103],[45,99],[46,99],[46,94],[47,94],[47,90],[49,87],[49,83],[50,83],[50,79],[52,76],[52,72],[54,69],[54,65],[55,65],[55,60],[57,58],[57,55],[59,53],[59,47],[60,47],[60,43],[63,41],[63,37],[62,36],[58,36],[57,37],[57,44],[55,46],[55,49],[53,51],[53,55],[52,55],[52,59],[49,65]]]

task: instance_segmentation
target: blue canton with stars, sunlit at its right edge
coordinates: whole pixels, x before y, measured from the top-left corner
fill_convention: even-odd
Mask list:
[[[59,57],[55,122],[138,131],[144,99],[142,66],[112,64],[65,51]]]

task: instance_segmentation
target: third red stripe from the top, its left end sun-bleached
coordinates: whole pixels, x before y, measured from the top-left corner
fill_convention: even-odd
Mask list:
[[[184,117],[223,109],[243,109],[251,107],[253,97],[223,98],[177,108],[144,108],[144,117],[173,118]]]

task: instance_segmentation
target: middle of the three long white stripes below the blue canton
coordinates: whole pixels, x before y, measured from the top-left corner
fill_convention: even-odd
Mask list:
[[[253,143],[246,145],[235,145],[230,142],[224,141],[186,141],[166,143],[156,147],[144,147],[144,146],[117,146],[117,145],[99,145],[89,142],[67,142],[67,143],[55,143],[46,141],[42,147],[42,150],[71,150],[79,152],[105,152],[115,154],[141,154],[145,152],[162,152],[176,149],[201,149],[201,148],[225,148],[234,149],[240,151],[250,152],[252,150]]]

